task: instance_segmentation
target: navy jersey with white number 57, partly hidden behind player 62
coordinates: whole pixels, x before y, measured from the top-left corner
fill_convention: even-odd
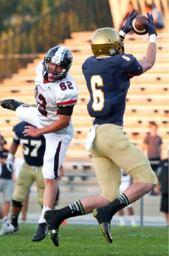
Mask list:
[[[23,131],[26,125],[31,125],[27,122],[20,122],[13,127],[15,132],[13,142],[21,144],[23,147],[23,156],[29,165],[43,165],[43,156],[45,151],[45,138],[43,135],[39,137],[24,136]]]

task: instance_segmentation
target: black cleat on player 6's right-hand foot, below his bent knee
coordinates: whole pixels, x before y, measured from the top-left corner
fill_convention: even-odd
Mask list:
[[[112,243],[113,239],[110,233],[110,214],[104,208],[95,208],[93,210],[93,217],[99,222],[102,236],[108,243]]]

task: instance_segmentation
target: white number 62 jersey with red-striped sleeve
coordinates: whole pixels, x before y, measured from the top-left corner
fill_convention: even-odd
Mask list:
[[[46,82],[42,75],[43,62],[36,68],[35,98],[38,105],[38,118],[42,126],[47,126],[59,119],[58,106],[75,105],[78,100],[78,86],[75,80],[67,74],[60,82]],[[74,133],[71,122],[57,134]]]

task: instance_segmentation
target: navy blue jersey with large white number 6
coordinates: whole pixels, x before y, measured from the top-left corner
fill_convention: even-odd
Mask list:
[[[82,71],[90,93],[87,110],[95,117],[94,124],[123,125],[130,78],[142,73],[136,58],[131,54],[91,56],[83,63]]]

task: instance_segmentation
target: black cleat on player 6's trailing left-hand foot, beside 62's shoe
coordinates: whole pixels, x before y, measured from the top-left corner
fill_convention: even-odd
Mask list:
[[[63,219],[59,216],[59,211],[57,210],[46,210],[44,214],[44,219],[47,222],[47,226],[50,230],[50,238],[54,245],[59,246],[59,226]]]

